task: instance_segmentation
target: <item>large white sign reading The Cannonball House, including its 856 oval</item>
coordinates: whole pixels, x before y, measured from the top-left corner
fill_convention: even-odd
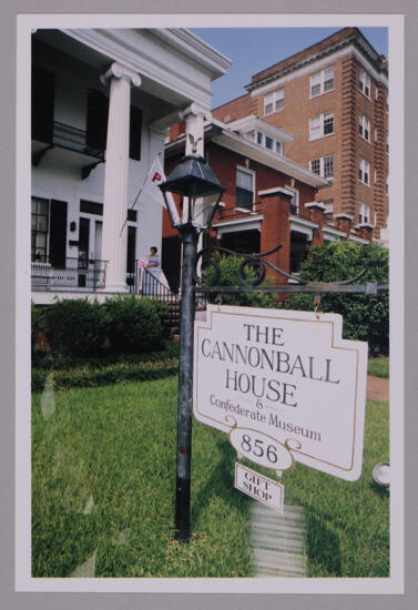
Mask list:
[[[361,475],[367,343],[338,314],[208,305],[195,323],[196,419],[278,472]]]

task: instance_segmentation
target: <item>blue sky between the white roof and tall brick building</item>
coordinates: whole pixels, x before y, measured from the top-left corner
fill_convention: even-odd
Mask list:
[[[192,32],[233,61],[224,77],[213,81],[212,108],[246,93],[253,74],[282,61],[340,28],[194,28]],[[387,28],[359,28],[374,49],[388,57]]]

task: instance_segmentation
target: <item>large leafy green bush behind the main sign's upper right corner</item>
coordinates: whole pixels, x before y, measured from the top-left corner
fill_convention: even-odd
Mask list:
[[[389,253],[377,245],[353,242],[333,242],[310,248],[302,264],[299,276],[310,282],[341,282],[366,270],[357,284],[389,282]],[[314,295],[296,294],[287,299],[288,309],[314,309]],[[389,295],[378,296],[326,294],[322,295],[319,311],[341,314],[344,337],[367,340],[369,355],[389,352]]]

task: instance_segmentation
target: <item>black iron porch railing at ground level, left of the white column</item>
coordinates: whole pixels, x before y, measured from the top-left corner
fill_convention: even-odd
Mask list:
[[[104,288],[106,263],[73,257],[51,261],[48,256],[41,256],[31,264],[32,288]]]

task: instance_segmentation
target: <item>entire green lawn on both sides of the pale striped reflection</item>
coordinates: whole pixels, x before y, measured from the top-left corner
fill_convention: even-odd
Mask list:
[[[251,500],[234,489],[227,436],[193,424],[192,539],[173,539],[176,377],[59,390],[32,401],[32,576],[251,577]],[[368,401],[363,477],[296,465],[286,504],[308,515],[309,576],[388,576],[388,407]],[[252,465],[254,467],[254,465]],[[257,468],[257,467],[256,467]]]

